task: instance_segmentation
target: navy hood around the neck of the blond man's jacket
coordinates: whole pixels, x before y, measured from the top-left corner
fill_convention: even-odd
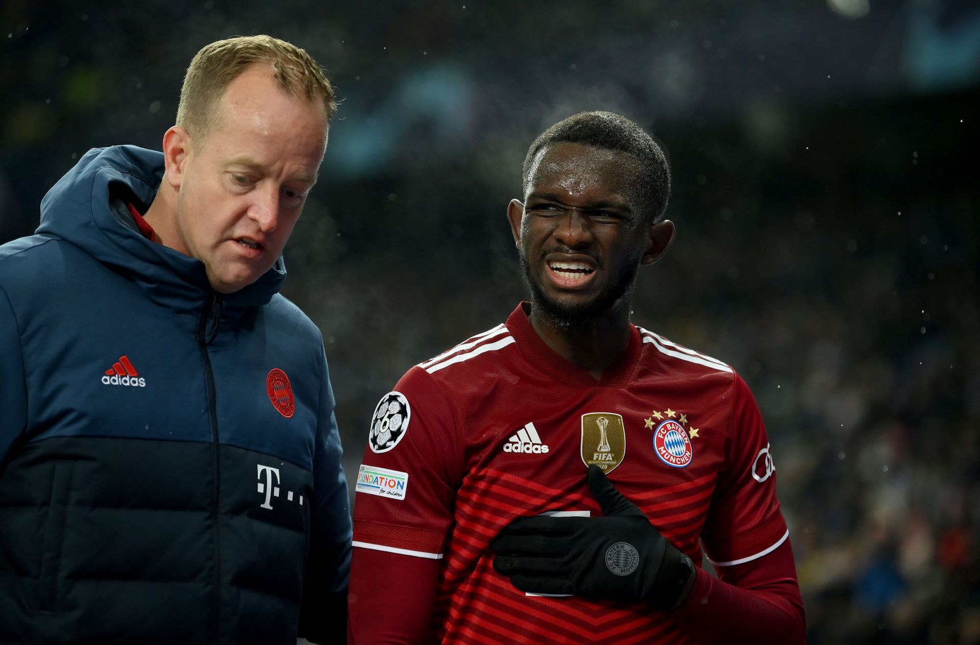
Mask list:
[[[164,174],[164,155],[136,146],[93,148],[41,200],[37,234],[60,237],[137,283],[147,296],[174,311],[200,311],[216,294],[204,263],[156,244],[121,223],[113,196],[131,193],[151,204]],[[258,280],[221,295],[237,309],[265,305],[286,279],[280,256]]]

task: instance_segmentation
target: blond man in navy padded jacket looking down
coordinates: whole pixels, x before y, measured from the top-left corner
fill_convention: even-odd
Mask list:
[[[302,49],[212,43],[162,154],[90,151],[0,246],[0,642],[344,633],[333,395],[278,294],[333,110]]]

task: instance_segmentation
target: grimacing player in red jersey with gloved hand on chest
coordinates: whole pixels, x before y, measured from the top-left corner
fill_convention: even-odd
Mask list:
[[[669,185],[618,115],[531,144],[508,207],[530,302],[406,372],[372,418],[352,642],[804,642],[749,387],[630,322],[638,269],[674,240]]]

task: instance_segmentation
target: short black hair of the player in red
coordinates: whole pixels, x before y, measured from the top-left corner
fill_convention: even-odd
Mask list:
[[[538,135],[524,157],[523,191],[527,193],[534,160],[551,143],[580,143],[632,155],[640,162],[639,196],[652,223],[660,222],[670,196],[670,167],[661,147],[642,127],[613,112],[580,112]]]

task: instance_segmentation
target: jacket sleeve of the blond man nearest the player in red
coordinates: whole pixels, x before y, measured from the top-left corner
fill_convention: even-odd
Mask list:
[[[351,511],[325,354],[321,369],[310,554],[303,580],[299,635],[315,642],[339,643],[347,631]]]

